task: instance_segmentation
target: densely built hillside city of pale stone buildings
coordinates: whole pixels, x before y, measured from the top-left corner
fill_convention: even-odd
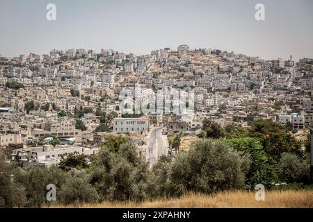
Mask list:
[[[262,60],[188,45],[149,55],[53,49],[0,56],[0,147],[24,165],[49,167],[70,153],[90,160],[107,135],[123,135],[152,165],[179,152],[168,135],[184,133],[182,149],[200,133],[204,118],[223,127],[272,119],[306,138],[313,124],[312,89],[312,58]],[[155,108],[166,103],[158,94],[164,90],[176,90],[192,115],[175,112],[172,102],[168,112]],[[145,112],[122,103],[125,94],[133,102],[139,96]],[[152,94],[156,102],[143,103]]]

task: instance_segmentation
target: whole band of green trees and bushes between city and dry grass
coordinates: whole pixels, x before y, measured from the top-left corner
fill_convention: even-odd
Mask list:
[[[179,147],[180,136],[170,135],[172,147]],[[56,185],[54,204],[63,205],[138,203],[190,192],[254,190],[259,183],[266,189],[309,185],[308,153],[289,130],[273,121],[256,120],[250,128],[223,128],[205,119],[200,136],[188,152],[179,151],[175,158],[162,156],[151,168],[129,139],[113,135],[106,137],[90,164],[84,155],[71,154],[58,166],[19,167],[1,155],[0,207],[50,205],[53,202],[46,200],[48,184]]]

